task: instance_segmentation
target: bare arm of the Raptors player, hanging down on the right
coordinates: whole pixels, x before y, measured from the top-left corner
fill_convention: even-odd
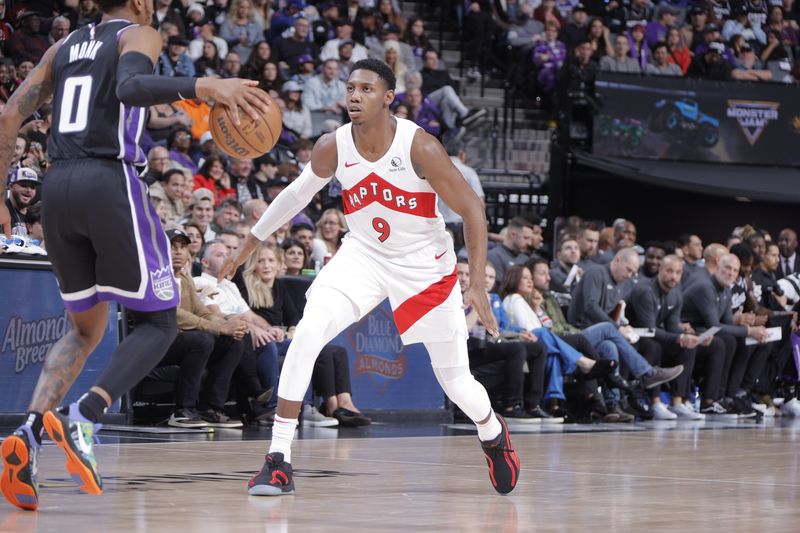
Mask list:
[[[486,270],[486,213],[483,202],[453,165],[441,143],[423,130],[417,130],[411,145],[411,162],[417,175],[428,180],[450,209],[464,219],[464,241],[469,253],[470,279],[482,280]],[[497,320],[489,307],[486,289],[481,283],[470,285],[464,303],[472,305],[481,322],[492,335],[498,335]]]

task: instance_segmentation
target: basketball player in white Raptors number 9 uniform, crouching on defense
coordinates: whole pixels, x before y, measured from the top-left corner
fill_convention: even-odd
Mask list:
[[[425,344],[445,393],[477,425],[494,488],[508,493],[519,477],[505,421],[469,371],[463,304],[475,307],[491,334],[497,334],[497,323],[480,284],[462,300],[453,241],[436,208],[438,194],[464,219],[470,273],[483,279],[483,204],[434,137],[390,114],[394,88],[385,63],[367,59],[353,66],[347,82],[352,122],[317,141],[311,164],[269,206],[238,257],[223,268],[222,276],[234,272],[333,176],[341,182],[350,232],[308,291],[281,372],[271,446],[250,480],[251,495],[294,492],[291,442],[314,360],[325,343],[387,297],[403,342]]]

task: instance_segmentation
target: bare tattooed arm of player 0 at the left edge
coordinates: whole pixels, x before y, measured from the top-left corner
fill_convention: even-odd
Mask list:
[[[63,40],[63,39],[62,39]],[[6,177],[11,158],[14,155],[14,146],[22,122],[31,116],[34,111],[53,94],[53,80],[51,66],[53,56],[61,46],[62,41],[50,47],[36,68],[28,74],[0,114],[0,226],[3,227],[6,237],[11,237],[11,215],[5,203]]]

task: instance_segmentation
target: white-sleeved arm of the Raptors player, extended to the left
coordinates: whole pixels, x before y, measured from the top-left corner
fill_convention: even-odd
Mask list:
[[[331,180],[336,172],[336,164],[336,134],[328,133],[314,144],[311,162],[306,165],[303,172],[269,204],[239,248],[236,258],[225,261],[218,278],[222,280],[233,275],[247,261],[258,243],[275,233],[307,206],[314,195]]]

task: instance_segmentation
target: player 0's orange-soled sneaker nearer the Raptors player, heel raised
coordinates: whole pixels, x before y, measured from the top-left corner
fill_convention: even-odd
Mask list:
[[[103,493],[103,480],[92,449],[95,427],[80,413],[77,403],[44,414],[44,429],[67,455],[67,472],[73,481],[83,492],[99,495]]]

